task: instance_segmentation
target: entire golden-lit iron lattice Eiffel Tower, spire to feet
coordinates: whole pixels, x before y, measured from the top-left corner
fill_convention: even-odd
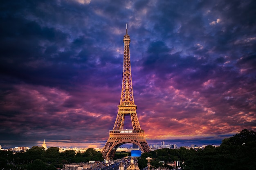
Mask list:
[[[124,35],[124,70],[121,100],[118,107],[117,118],[113,130],[109,131],[109,138],[101,153],[104,159],[113,159],[119,146],[127,143],[136,144],[143,152],[149,152],[150,148],[144,137],[144,130],[141,130],[137,117],[137,106],[134,104],[132,92],[132,75],[130,66],[130,36]],[[124,118],[130,116],[133,129],[124,129]]]

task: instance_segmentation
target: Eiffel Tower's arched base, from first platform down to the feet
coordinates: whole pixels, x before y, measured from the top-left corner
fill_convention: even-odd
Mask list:
[[[128,143],[136,144],[143,152],[150,151],[144,130],[110,130],[108,141],[101,151],[103,158],[113,159],[117,148]]]

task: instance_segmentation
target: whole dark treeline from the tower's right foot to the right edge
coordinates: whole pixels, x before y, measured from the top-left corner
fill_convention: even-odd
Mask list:
[[[256,169],[256,132],[244,129],[240,133],[223,139],[219,147],[206,146],[193,150],[160,149],[143,153],[139,163],[147,157],[153,158],[151,168],[174,168],[166,162],[180,161],[184,170],[255,170]],[[164,161],[164,164],[163,162]],[[182,163],[184,161],[184,163]],[[141,165],[143,167],[145,165]]]

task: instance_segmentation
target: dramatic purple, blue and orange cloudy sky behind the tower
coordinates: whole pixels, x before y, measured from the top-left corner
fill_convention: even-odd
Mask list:
[[[256,130],[255,9],[255,0],[4,0],[0,145],[103,147],[126,23],[148,144],[220,144]]]

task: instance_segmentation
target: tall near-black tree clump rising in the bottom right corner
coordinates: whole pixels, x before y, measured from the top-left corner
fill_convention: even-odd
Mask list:
[[[220,147],[207,146],[185,161],[186,170],[255,169],[256,133],[247,129],[223,139]]]

